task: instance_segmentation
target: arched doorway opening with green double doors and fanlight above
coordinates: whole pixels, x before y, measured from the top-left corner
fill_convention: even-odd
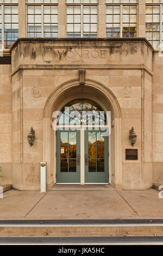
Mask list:
[[[57,114],[57,184],[108,184],[109,115],[97,102],[84,98],[66,103]]]

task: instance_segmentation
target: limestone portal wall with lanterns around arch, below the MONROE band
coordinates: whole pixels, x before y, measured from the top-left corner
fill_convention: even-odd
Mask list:
[[[39,188],[39,168],[42,161],[42,113],[45,102],[61,83],[78,78],[78,70],[23,70],[23,189]],[[152,186],[152,78],[145,75],[145,113],[142,115],[142,70],[86,70],[86,79],[101,82],[117,97],[122,112],[122,188],[145,189]],[[145,142],[142,143],[142,119],[145,122]],[[151,126],[150,126],[151,125]],[[126,148],[130,145],[129,130],[134,126],[138,149],[138,161],[126,160]],[[27,135],[33,127],[36,141],[30,147]],[[47,141],[52,139],[48,135]],[[143,149],[142,149],[143,148]],[[143,152],[142,152],[143,150]],[[52,150],[53,152],[53,150]],[[48,157],[48,156],[47,156]],[[144,159],[143,159],[144,157]],[[53,166],[48,166],[53,175]],[[114,176],[111,177],[114,181]],[[51,182],[49,180],[49,182]]]

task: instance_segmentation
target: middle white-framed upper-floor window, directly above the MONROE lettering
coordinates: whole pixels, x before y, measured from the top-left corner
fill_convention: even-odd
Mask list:
[[[83,25],[84,24],[91,24],[91,22],[89,22],[89,23],[83,23],[83,7],[84,6],[89,6],[89,7],[91,7],[91,6],[96,6],[97,7],[97,32],[96,32],[96,38],[98,38],[98,0],[97,0],[97,3],[83,3],[83,0],[81,0],[81,2],[82,3],[67,3],[67,1],[66,1],[66,4],[65,4],[65,12],[66,12],[66,38],[68,38],[67,37],[67,6],[80,6],[80,15],[81,15],[81,19],[80,19],[80,30],[81,30],[81,32],[80,32],[80,38],[83,38]],[[73,15],[74,15],[74,13],[73,13]],[[89,14],[89,15],[91,15],[91,14]],[[74,23],[73,23],[74,24]],[[94,23],[92,23],[92,24],[94,24]],[[71,32],[70,32],[71,33]],[[86,33],[88,33],[88,32],[86,32]],[[89,34],[91,33],[91,31],[89,32]],[[73,34],[74,34],[74,31],[73,31]],[[74,38],[74,37],[73,37]],[[91,38],[91,36],[89,36],[89,37],[84,37],[84,38]],[[95,38],[95,37],[92,37],[92,38]]]

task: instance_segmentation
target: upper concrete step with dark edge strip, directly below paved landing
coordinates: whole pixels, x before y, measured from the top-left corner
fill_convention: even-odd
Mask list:
[[[163,220],[0,220],[4,236],[163,236]]]

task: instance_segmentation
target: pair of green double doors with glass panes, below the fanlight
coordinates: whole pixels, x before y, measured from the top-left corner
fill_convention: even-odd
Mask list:
[[[82,141],[80,132],[84,132]],[[57,184],[80,184],[82,170],[85,184],[109,183],[109,138],[102,131],[58,130],[56,157]]]

